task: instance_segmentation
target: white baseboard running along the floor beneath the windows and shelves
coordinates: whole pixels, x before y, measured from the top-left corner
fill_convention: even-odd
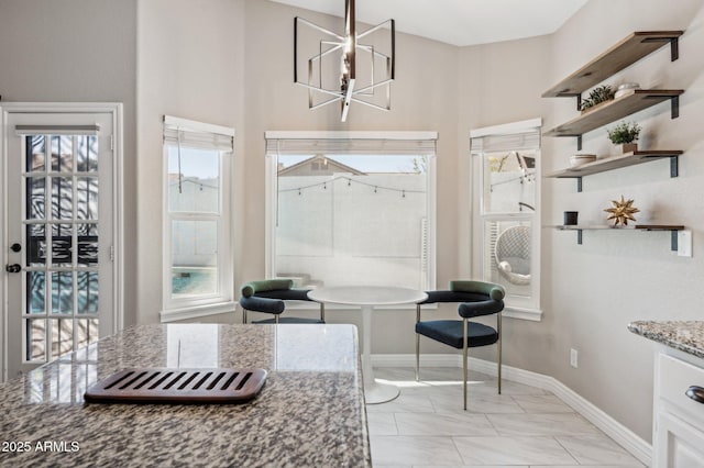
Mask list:
[[[376,367],[415,367],[416,356],[413,354],[373,355],[372,365]],[[421,367],[462,367],[462,356],[459,354],[426,354],[420,355]],[[496,363],[470,357],[469,367],[472,370],[496,377]],[[502,366],[502,376],[506,380],[539,389],[548,390],[574,411],[613,438],[646,466],[652,463],[652,445],[640,438],[628,427],[606,414],[592,402],[556,379],[517,367]]]

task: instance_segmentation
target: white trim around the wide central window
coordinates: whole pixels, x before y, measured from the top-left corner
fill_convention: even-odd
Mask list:
[[[380,141],[438,141],[438,132],[428,131],[395,131],[395,132],[366,132],[366,131],[266,131],[265,142],[272,140],[380,140]],[[270,153],[264,152],[265,157],[265,275],[272,278],[275,271],[275,253],[277,207],[277,164]],[[428,283],[429,289],[435,289],[437,285],[437,158],[438,152],[428,159]],[[288,305],[287,305],[288,307]],[[306,308],[306,304],[290,304],[292,308]],[[331,304],[331,308],[344,308]],[[349,307],[348,307],[349,309]]]

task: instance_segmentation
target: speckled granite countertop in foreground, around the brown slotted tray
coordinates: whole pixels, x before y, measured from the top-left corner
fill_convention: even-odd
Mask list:
[[[261,367],[244,404],[84,402],[130,367]],[[371,466],[352,325],[146,325],[0,385],[0,466]],[[20,452],[21,449],[26,449]]]

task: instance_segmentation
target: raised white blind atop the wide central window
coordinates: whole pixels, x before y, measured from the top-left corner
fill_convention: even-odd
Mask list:
[[[267,155],[310,155],[310,154],[404,154],[435,155],[438,134],[436,132],[384,132],[373,135],[361,132],[344,132],[343,135],[330,132],[326,135],[299,136],[266,132]]]

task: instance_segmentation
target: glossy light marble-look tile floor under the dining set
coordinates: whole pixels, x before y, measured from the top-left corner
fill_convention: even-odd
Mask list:
[[[376,368],[400,395],[366,406],[375,467],[644,467],[554,394],[470,374],[462,410],[462,369]]]

